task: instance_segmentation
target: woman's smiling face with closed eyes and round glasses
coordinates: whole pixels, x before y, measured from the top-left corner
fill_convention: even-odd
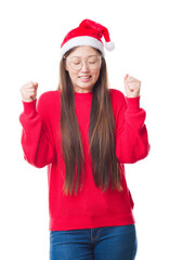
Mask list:
[[[87,93],[92,91],[100,76],[101,55],[92,47],[78,47],[66,57],[65,68],[75,92]]]

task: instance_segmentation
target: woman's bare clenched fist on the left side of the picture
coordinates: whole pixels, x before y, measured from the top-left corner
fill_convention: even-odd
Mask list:
[[[22,100],[24,102],[31,102],[37,99],[38,82],[29,81],[23,84],[20,89],[22,94]]]

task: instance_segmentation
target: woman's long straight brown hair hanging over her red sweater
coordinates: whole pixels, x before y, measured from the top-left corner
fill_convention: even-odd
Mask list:
[[[75,50],[72,49],[65,57]],[[101,54],[101,52],[98,50]],[[65,69],[65,58],[60,63],[61,90],[61,132],[62,153],[65,161],[64,193],[72,195],[78,193],[84,180],[84,156],[81,142],[80,129],[75,110],[74,87]],[[93,87],[93,96],[90,112],[89,147],[92,159],[92,174],[95,185],[107,191],[122,190],[120,184],[120,168],[116,157],[115,120],[108,91],[107,69],[105,58],[99,79]]]

